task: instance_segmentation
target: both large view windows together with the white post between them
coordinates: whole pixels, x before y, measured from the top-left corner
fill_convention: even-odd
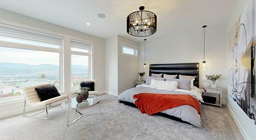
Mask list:
[[[92,78],[92,44],[0,23],[0,100],[23,97],[22,89],[36,84],[50,83],[66,93],[78,89]]]

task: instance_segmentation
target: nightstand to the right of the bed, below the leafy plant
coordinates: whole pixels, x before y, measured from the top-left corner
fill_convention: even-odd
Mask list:
[[[216,98],[216,102],[215,103],[209,103],[209,102],[204,102],[204,104],[210,104],[213,106],[218,106],[220,108],[222,108],[222,89],[217,87],[215,89],[212,89],[211,86],[208,86],[206,88],[204,88],[206,90],[206,92],[203,91],[203,98],[205,97],[215,97]],[[204,100],[205,101],[205,100]]]

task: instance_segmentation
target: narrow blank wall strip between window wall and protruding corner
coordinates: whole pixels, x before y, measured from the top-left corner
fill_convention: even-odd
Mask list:
[[[118,95],[118,36],[105,40],[105,87],[108,94]]]

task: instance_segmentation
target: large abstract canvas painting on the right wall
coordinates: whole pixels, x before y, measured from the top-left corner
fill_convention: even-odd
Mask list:
[[[229,94],[255,121],[255,1],[250,0],[229,32]]]

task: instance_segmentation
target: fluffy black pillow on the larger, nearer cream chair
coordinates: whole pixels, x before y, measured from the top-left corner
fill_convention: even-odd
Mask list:
[[[41,101],[61,96],[55,86],[44,86],[35,88],[35,90]]]

